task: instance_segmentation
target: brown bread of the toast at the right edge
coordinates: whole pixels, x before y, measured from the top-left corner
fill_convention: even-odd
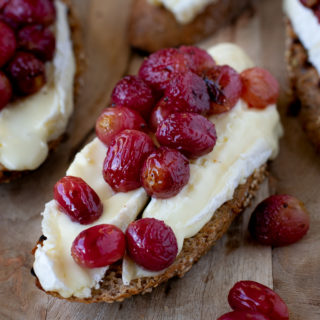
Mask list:
[[[290,20],[286,20],[286,60],[291,88],[301,103],[299,118],[309,140],[320,152],[320,76]]]

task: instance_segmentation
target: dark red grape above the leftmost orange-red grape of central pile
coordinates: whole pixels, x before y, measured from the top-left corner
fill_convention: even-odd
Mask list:
[[[126,76],[112,91],[112,103],[134,109],[147,117],[154,105],[151,88],[138,76]]]

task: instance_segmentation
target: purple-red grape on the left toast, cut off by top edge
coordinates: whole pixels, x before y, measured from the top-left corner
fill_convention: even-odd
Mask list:
[[[56,18],[56,10],[50,0],[10,0],[3,14],[18,26],[34,23],[48,26]]]

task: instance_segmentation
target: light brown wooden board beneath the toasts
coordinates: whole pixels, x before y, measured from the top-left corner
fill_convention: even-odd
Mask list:
[[[279,109],[285,136],[271,165],[272,178],[252,207],[183,279],[173,279],[151,294],[112,305],[84,305],[49,297],[34,286],[30,251],[41,235],[40,212],[52,198],[54,183],[92,136],[95,119],[107,105],[114,84],[141,60],[130,55],[126,38],[130,0],[73,0],[73,4],[87,67],[68,136],[36,172],[0,186],[0,319],[216,319],[229,310],[231,286],[244,279],[274,287],[287,302],[290,319],[320,319],[320,157],[297,120],[286,116],[290,97],[279,0],[256,1],[235,24],[201,44],[235,42],[281,84]],[[256,203],[275,191],[306,203],[311,228],[297,244],[271,250],[250,240],[247,223]]]

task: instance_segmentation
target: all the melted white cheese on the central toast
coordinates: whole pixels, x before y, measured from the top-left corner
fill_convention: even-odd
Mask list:
[[[218,64],[230,64],[237,71],[253,66],[237,46],[221,44],[209,49]],[[278,152],[282,129],[275,106],[265,110],[248,109],[243,101],[230,112],[210,118],[218,134],[214,150],[190,166],[190,181],[174,198],[152,199],[144,210],[146,217],[165,220],[174,230],[181,250],[183,239],[196,234],[214,211],[233,197],[235,188],[252,172]],[[102,177],[106,147],[96,138],[77,154],[68,175],[83,178],[100,196],[104,212],[92,225],[111,223],[125,230],[147,204],[148,197],[140,188],[129,193],[113,193]],[[168,214],[170,213],[170,215]],[[46,291],[63,297],[90,297],[98,287],[107,267],[86,269],[72,259],[73,240],[82,230],[92,226],[72,222],[61,213],[54,201],[46,205],[42,231],[47,237],[35,253],[34,270]],[[139,268],[130,259],[123,262],[123,281],[154,275]]]

